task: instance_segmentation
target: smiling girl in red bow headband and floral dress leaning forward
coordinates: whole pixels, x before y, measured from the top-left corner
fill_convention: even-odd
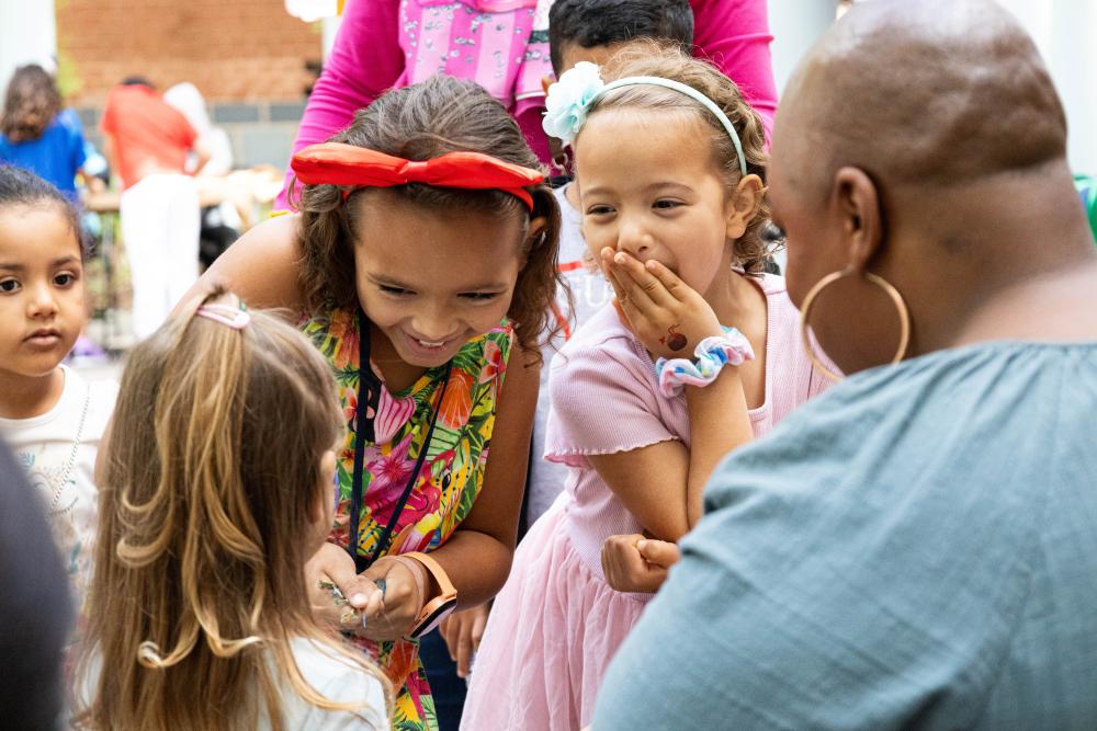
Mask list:
[[[336,372],[336,527],[306,582],[317,616],[398,688],[394,727],[434,728],[415,638],[510,567],[558,281],[539,167],[475,84],[392,91],[295,156],[298,215],[204,277],[289,309]]]

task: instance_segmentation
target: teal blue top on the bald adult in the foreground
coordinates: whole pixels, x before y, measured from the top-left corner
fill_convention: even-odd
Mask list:
[[[857,375],[705,509],[595,731],[1097,729],[1097,343]]]

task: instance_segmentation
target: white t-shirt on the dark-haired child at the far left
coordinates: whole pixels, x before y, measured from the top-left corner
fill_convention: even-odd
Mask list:
[[[89,384],[76,370],[59,367],[65,389],[57,403],[39,416],[0,419],[0,434],[46,506],[54,542],[79,606],[91,581],[99,517],[95,455],[118,387],[111,380]]]

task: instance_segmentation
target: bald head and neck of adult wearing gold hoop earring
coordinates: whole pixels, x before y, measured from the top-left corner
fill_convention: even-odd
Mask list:
[[[949,347],[1005,293],[1094,258],[1063,107],[987,0],[847,13],[785,89],[769,195],[789,295],[802,306],[827,283],[811,327],[846,373],[904,351],[904,320],[907,356]]]

